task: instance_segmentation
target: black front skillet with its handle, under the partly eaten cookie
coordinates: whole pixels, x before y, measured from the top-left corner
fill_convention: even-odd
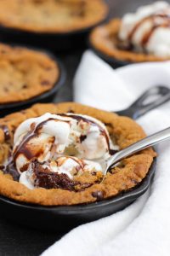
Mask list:
[[[157,99],[154,101],[152,99],[152,101],[148,102],[152,96],[156,96]],[[145,92],[127,110],[118,113],[137,119],[150,109],[158,107],[169,99],[170,90],[167,87],[158,86]],[[12,201],[0,196],[0,211],[6,218],[33,228],[42,230],[71,230],[71,228],[79,224],[106,217],[127,207],[149,188],[155,171],[156,160],[153,161],[148,175],[139,186],[108,200],[69,207],[42,207]]]

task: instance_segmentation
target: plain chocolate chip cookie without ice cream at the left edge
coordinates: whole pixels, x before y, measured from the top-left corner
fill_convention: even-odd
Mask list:
[[[58,64],[47,54],[0,44],[0,104],[41,95],[58,80]]]

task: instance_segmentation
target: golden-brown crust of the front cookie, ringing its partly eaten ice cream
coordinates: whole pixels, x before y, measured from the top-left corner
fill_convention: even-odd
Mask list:
[[[11,136],[22,121],[31,117],[37,117],[43,113],[66,113],[88,114],[105,123],[111,136],[114,137],[120,148],[135,143],[145,137],[143,129],[127,117],[118,116],[96,108],[91,108],[74,102],[59,104],[37,104],[20,113],[12,113],[0,119],[0,125],[7,125]],[[12,141],[12,140],[11,140]],[[5,136],[0,128],[0,163],[3,163],[5,150],[10,142],[5,141]],[[6,149],[5,149],[6,146]],[[7,196],[16,201],[23,201],[44,206],[75,205],[97,201],[94,196],[99,191],[103,199],[118,195],[122,191],[132,189],[140,183],[150,169],[150,165],[156,153],[152,148],[147,148],[139,154],[122,161],[121,166],[112,169],[103,183],[94,183],[88,189],[79,192],[64,189],[27,189],[21,183],[15,182],[8,174],[0,173],[0,195]]]

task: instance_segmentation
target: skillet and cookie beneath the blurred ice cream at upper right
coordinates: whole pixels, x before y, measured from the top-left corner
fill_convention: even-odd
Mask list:
[[[168,57],[135,51],[131,46],[129,49],[122,47],[122,42],[118,38],[121,23],[121,19],[111,19],[104,25],[94,28],[89,34],[88,45],[99,57],[115,68],[133,63],[169,60]]]

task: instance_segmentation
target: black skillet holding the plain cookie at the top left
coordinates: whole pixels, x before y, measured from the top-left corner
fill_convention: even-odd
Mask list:
[[[103,20],[93,26],[88,26],[77,31],[65,33],[52,32],[26,32],[24,30],[10,28],[0,25],[1,40],[7,43],[30,44],[37,47],[44,47],[57,51],[77,49],[86,43],[88,33],[95,27],[107,20]]]

